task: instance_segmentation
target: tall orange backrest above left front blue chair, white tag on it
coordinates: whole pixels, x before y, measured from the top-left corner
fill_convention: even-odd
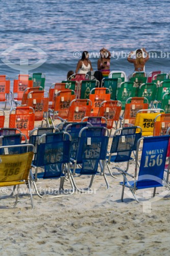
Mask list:
[[[69,105],[72,100],[76,99],[75,91],[64,90],[59,91],[55,97],[54,111],[57,111],[57,115],[61,118],[68,118]]]

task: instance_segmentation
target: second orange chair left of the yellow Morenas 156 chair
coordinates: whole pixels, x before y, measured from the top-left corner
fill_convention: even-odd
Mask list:
[[[105,100],[100,104],[98,116],[104,116],[107,119],[108,129],[112,129],[113,122],[115,121],[117,129],[121,110],[122,103],[119,100]]]

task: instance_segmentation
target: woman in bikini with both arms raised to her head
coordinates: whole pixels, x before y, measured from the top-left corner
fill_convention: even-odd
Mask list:
[[[147,57],[143,58],[142,50],[144,53],[147,54]],[[148,52],[144,48],[142,48],[142,50],[141,49],[136,50],[136,59],[133,59],[130,57],[131,53],[133,52],[130,52],[128,56],[128,61],[134,64],[135,72],[144,72],[145,62],[149,60]]]

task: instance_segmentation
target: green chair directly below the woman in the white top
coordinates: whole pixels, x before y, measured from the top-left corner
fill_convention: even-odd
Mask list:
[[[88,99],[90,91],[93,88],[99,87],[99,81],[98,80],[82,80],[79,83],[79,95],[80,99]]]

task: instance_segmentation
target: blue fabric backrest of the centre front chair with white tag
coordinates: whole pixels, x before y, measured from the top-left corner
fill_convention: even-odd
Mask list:
[[[106,160],[108,141],[109,131],[106,127],[84,127],[80,131],[76,154],[77,163],[82,163],[80,174],[92,175],[97,172],[100,160]]]

